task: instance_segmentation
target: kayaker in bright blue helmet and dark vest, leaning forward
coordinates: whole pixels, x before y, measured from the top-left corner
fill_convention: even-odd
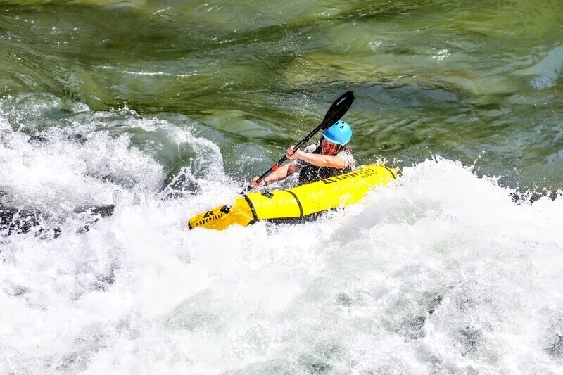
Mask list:
[[[352,129],[348,122],[339,120],[322,132],[319,144],[305,147],[303,151],[293,151],[293,146],[287,149],[286,157],[291,163],[282,165],[269,176],[256,183],[254,177],[250,186],[266,186],[270,182],[281,181],[293,173],[299,172],[299,184],[319,181],[352,171],[356,161],[348,147],[352,138]]]

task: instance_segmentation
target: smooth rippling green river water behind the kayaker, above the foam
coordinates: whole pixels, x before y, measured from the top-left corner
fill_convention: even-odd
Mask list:
[[[81,116],[130,134],[169,178],[196,150],[124,108],[209,139],[243,180],[353,90],[360,163],[436,153],[507,186],[558,188],[562,71],[560,0],[0,1],[10,126],[40,135]]]

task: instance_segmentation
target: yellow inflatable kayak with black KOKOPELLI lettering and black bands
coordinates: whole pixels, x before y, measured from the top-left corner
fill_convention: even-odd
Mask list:
[[[229,225],[246,227],[258,220],[299,222],[327,210],[356,203],[374,186],[397,178],[398,169],[369,164],[339,176],[286,190],[248,193],[234,205],[222,205],[202,212],[188,221],[190,229],[222,230]]]

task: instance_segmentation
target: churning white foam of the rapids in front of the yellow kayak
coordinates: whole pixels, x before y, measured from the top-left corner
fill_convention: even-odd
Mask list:
[[[85,234],[2,245],[3,374],[558,371],[561,198],[516,205],[495,179],[427,160],[317,222],[188,231],[240,186],[163,201],[158,166],[103,133],[6,145],[25,196],[105,191],[89,170],[138,182]]]

